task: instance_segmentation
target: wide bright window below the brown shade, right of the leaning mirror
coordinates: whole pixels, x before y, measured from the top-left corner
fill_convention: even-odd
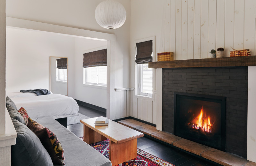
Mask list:
[[[107,66],[84,68],[84,84],[107,86]]]

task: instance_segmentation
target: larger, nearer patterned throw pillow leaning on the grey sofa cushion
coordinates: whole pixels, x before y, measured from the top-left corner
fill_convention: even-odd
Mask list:
[[[54,164],[65,165],[64,150],[57,136],[47,127],[28,118],[28,128],[32,130],[51,156]]]

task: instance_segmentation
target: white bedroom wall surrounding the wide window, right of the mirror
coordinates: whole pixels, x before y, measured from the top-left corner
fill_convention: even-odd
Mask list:
[[[75,39],[75,99],[107,108],[107,88],[83,85],[83,53],[99,47],[107,48],[107,41]]]

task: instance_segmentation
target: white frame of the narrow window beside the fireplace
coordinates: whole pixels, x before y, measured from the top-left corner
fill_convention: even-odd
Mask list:
[[[135,62],[136,58],[136,54],[137,54],[137,47],[136,47],[136,43],[140,43],[140,42],[144,42],[144,41],[150,41],[152,40],[153,41],[153,44],[152,44],[152,59],[153,59],[153,62],[155,61],[155,36],[152,36],[152,37],[148,37],[148,38],[144,38],[144,39],[140,39],[140,40],[136,40],[134,43],[135,45],[135,55],[134,55],[134,63],[135,63],[135,95],[136,96],[142,96],[142,97],[150,97],[152,98],[153,96],[153,93],[154,93],[154,87],[155,87],[155,71],[153,69],[152,71],[152,94],[148,94],[148,93],[143,93],[141,92],[141,66],[142,65],[139,65]]]

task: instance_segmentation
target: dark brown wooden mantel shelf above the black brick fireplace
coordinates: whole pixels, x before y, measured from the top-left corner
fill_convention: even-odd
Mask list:
[[[256,66],[256,56],[149,62],[148,68]]]

